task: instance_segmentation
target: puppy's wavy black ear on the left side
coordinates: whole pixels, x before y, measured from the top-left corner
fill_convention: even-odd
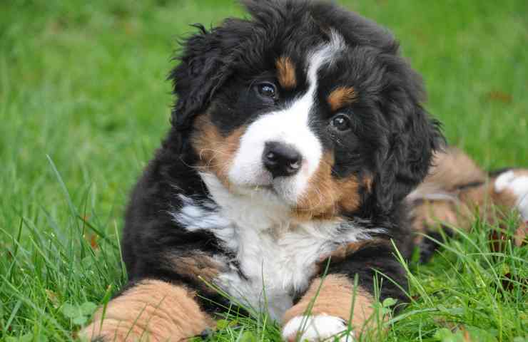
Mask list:
[[[199,32],[181,45],[183,53],[168,79],[173,83],[173,93],[178,97],[173,107],[171,122],[177,130],[188,129],[193,118],[205,110],[215,94],[230,76],[230,56],[225,56],[222,33],[218,29],[207,31],[194,24]]]

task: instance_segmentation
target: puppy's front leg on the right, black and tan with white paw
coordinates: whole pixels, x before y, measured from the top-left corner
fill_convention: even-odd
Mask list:
[[[330,259],[327,275],[314,279],[300,301],[286,311],[283,317],[286,341],[324,341],[333,337],[355,341],[354,337],[377,326],[383,318],[374,309],[375,270],[405,288],[405,272],[392,256],[388,242],[366,245],[335,261]],[[387,279],[381,283],[380,300],[392,297],[405,301],[398,286]]]

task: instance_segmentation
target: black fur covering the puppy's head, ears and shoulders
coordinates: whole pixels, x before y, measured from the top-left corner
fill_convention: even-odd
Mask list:
[[[420,76],[400,57],[398,43],[388,31],[333,4],[291,0],[244,4],[253,19],[227,19],[210,31],[196,25],[198,33],[183,41],[180,63],[169,76],[178,98],[172,127],[133,190],[126,212],[123,259],[131,282],[156,278],[198,289],[195,281],[171,266],[167,254],[230,253],[212,233],[188,232],[169,213],[181,207],[179,194],[208,199],[194,167],[198,155],[191,146],[193,122],[213,108],[213,124],[227,134],[268,110],[268,104],[252,100],[250,85],[255,78],[273,78],[270,70],[283,53],[296,61],[296,91],[303,91],[305,53],[328,41],[329,28],[345,38],[348,48],[346,56],[326,71],[321,87],[353,85],[359,98],[346,112],[353,130],[342,138],[344,145],[336,145],[325,126],[332,113],[323,95],[313,129],[325,149],[335,152],[335,177],[371,175],[373,179],[372,192],[362,190],[361,207],[342,216],[387,228],[390,233],[381,238],[395,239],[409,256],[412,237],[402,199],[423,180],[433,150],[443,141],[439,124],[422,107],[425,91]],[[287,101],[295,93],[281,95]],[[373,269],[377,269],[405,287],[405,274],[392,252],[390,243],[367,247],[332,264],[330,272],[352,279],[358,274],[360,284],[372,291]],[[383,282],[381,295],[405,301],[390,281]],[[213,309],[207,301],[202,304]]]

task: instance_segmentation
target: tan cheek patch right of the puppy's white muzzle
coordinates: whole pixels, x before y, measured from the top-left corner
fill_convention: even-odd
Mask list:
[[[340,210],[354,211],[360,206],[360,182],[355,176],[342,180],[332,177],[332,153],[323,155],[318,170],[308,182],[305,194],[298,200],[295,216],[298,219],[330,219]]]

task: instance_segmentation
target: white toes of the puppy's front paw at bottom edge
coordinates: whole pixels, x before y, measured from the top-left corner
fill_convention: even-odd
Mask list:
[[[352,332],[346,333],[347,323],[342,318],[328,315],[296,316],[283,327],[283,339],[293,341],[352,342]]]

